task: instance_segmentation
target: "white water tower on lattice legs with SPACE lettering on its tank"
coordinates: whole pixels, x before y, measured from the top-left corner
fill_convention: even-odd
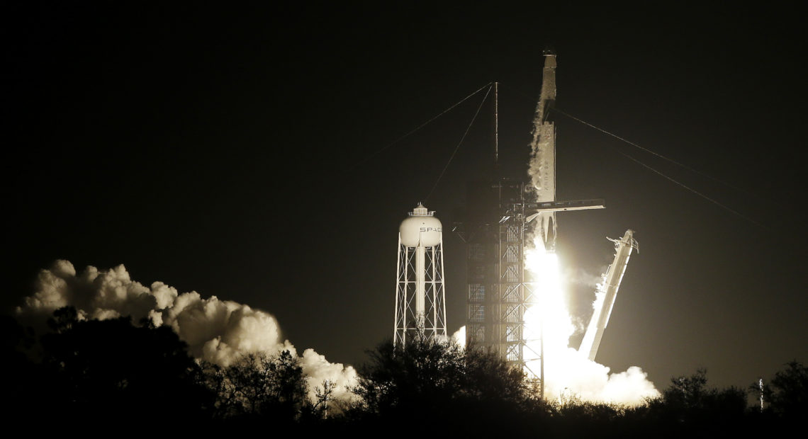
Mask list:
[[[423,333],[446,340],[443,226],[419,203],[398,227],[398,269],[393,342]]]

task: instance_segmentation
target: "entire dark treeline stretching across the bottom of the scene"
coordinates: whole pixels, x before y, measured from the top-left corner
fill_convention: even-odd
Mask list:
[[[295,431],[417,437],[726,437],[788,432],[808,414],[808,367],[790,362],[760,394],[715,388],[705,370],[671,379],[638,407],[542,400],[538,383],[499,357],[426,340],[368,352],[349,398],[309,392],[297,357],[251,353],[198,362],[170,328],[57,310],[42,335],[2,318],[4,417],[27,431],[85,433]],[[113,429],[113,430],[110,430]],[[273,430],[280,429],[280,430]]]

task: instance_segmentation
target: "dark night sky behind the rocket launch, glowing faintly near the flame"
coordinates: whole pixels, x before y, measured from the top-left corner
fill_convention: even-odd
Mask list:
[[[560,109],[741,189],[558,117],[559,199],[607,200],[559,215],[562,263],[600,274],[605,236],[633,228],[640,243],[599,362],[642,366],[658,387],[700,366],[746,386],[806,362],[802,16],[656,7],[6,6],[2,307],[57,258],[123,263],[146,285],[269,311],[298,349],[362,362],[392,335],[398,223],[482,94],[368,156],[499,81],[501,171],[524,178],[553,44]],[[492,109],[428,200],[444,224],[490,172]],[[453,332],[465,253],[444,242]],[[570,288],[585,309],[591,288]]]

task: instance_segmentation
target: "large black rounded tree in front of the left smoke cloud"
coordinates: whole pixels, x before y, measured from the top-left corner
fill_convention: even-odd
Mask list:
[[[137,419],[155,412],[197,419],[213,405],[200,367],[170,328],[134,326],[128,317],[78,320],[57,310],[56,332],[41,337],[53,381],[53,409],[72,420]]]

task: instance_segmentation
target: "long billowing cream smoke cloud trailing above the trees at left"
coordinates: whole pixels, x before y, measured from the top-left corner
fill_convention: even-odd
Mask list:
[[[124,265],[100,271],[87,266],[81,274],[69,261],[56,261],[42,270],[33,295],[24,300],[17,314],[23,318],[50,316],[60,307],[73,306],[80,319],[113,319],[130,316],[134,322],[149,319],[155,326],[167,325],[188,345],[193,357],[229,366],[243,353],[278,353],[297,349],[283,340],[280,326],[267,312],[242,303],[203,299],[196,291],[179,294],[171,286],[154,282],[146,287],[129,278]],[[356,385],[356,370],[330,363],[326,357],[305,349],[299,356],[303,372],[309,377],[309,395],[324,380],[335,384],[335,399],[349,399],[347,387]]]

